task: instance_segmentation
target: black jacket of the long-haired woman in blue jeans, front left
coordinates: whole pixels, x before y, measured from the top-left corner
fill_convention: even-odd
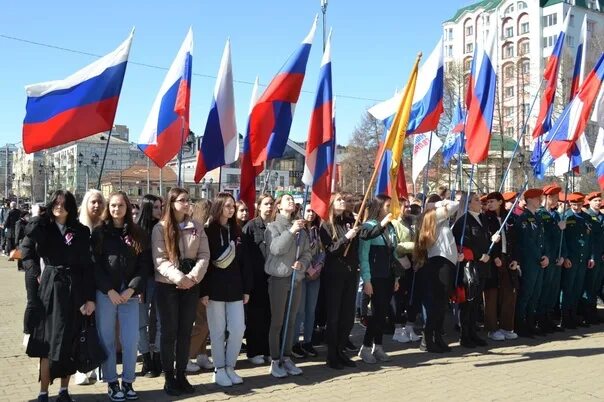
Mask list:
[[[120,293],[123,288],[131,288],[134,294],[140,294],[145,289],[151,249],[145,242],[144,250],[137,254],[127,241],[132,240],[127,236],[126,226],[118,229],[111,222],[105,222],[92,231],[96,288],[104,294],[111,289]]]

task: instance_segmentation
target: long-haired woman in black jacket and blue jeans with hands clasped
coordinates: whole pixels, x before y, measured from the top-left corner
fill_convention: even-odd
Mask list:
[[[145,288],[151,263],[149,244],[132,221],[126,193],[109,196],[103,223],[92,231],[96,322],[101,345],[107,353],[102,364],[103,380],[112,401],[138,399],[132,383],[136,379],[138,343],[138,295]],[[116,370],[116,322],[122,345],[122,386]]]

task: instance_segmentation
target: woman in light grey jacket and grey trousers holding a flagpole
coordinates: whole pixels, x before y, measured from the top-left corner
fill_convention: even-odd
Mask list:
[[[287,375],[300,375],[302,370],[291,360],[292,343],[295,335],[295,317],[300,304],[300,281],[310,266],[311,254],[308,236],[303,230],[303,219],[295,220],[296,204],[289,194],[279,196],[275,202],[275,219],[265,232],[267,256],[265,271],[269,275],[268,295],[271,305],[271,327],[268,343],[271,353],[270,374],[277,378]],[[295,275],[294,288],[291,276]],[[289,293],[292,292],[292,304],[289,322],[283,328]],[[287,337],[281,339],[281,331],[287,331]],[[284,359],[281,355],[281,342],[284,342]]]

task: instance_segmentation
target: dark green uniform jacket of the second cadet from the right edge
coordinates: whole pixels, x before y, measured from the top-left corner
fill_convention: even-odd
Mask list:
[[[581,211],[575,213],[568,211],[566,217],[565,240],[568,258],[576,262],[586,262],[592,255],[591,231],[592,218]]]

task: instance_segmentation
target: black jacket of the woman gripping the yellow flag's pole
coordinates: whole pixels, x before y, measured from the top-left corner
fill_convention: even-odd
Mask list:
[[[338,216],[334,222],[337,239],[333,240],[334,228],[329,222],[322,222],[319,229],[321,243],[325,248],[325,265],[321,275],[354,274],[359,271],[359,239],[348,240],[346,232],[354,226],[351,216]],[[350,247],[348,247],[350,245]],[[346,249],[348,253],[344,256]]]

